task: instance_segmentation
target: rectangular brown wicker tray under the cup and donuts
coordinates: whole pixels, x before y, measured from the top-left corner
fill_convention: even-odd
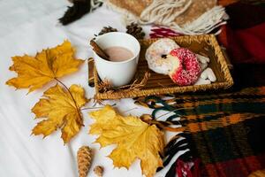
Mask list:
[[[172,37],[171,39],[176,41],[181,47],[185,47],[195,53],[207,55],[208,58],[210,58],[208,67],[212,68],[216,74],[216,82],[206,85],[179,87],[170,80],[168,75],[152,72],[148,69],[148,63],[145,59],[145,52],[148,49],[148,46],[157,39],[148,39],[140,41],[140,59],[137,73],[135,74],[135,78],[140,79],[144,77],[144,74],[147,71],[149,71],[150,77],[148,78],[147,84],[140,89],[100,91],[100,79],[97,75],[96,68],[94,67],[95,99],[119,99],[125,97],[195,92],[200,90],[227,89],[231,87],[233,84],[231,73],[229,71],[226,59],[223,57],[223,52],[216,41],[215,35],[177,36]]]

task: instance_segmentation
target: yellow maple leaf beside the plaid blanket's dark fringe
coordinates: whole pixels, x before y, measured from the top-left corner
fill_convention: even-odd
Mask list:
[[[163,153],[163,133],[155,125],[150,126],[137,117],[123,117],[110,105],[89,114],[95,119],[89,133],[100,135],[95,142],[102,147],[117,144],[109,156],[114,166],[128,169],[139,158],[142,173],[147,177],[153,176],[156,168],[163,166],[159,155]]]

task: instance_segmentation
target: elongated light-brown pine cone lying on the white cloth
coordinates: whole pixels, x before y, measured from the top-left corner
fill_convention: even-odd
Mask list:
[[[88,146],[82,146],[78,150],[77,158],[79,165],[79,177],[87,177],[92,160],[91,149]]]

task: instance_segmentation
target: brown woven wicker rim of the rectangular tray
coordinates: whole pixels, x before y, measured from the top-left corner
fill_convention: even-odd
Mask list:
[[[195,92],[195,91],[205,91],[210,89],[228,89],[233,85],[233,80],[231,78],[231,73],[229,71],[227,62],[223,57],[223,52],[216,41],[215,35],[193,35],[193,36],[177,36],[170,37],[176,42],[185,42],[187,44],[192,42],[207,42],[209,46],[212,46],[216,55],[217,63],[220,64],[220,70],[223,74],[224,81],[219,81],[206,85],[193,85],[193,86],[173,86],[169,88],[157,88],[157,89],[135,89],[135,90],[117,90],[112,93],[100,93],[99,92],[99,78],[94,67],[94,78],[95,78],[95,99],[119,99],[125,97],[137,97],[137,96],[152,96],[152,95],[163,95],[163,94],[173,94],[173,93],[185,93],[185,92]],[[140,41],[141,45],[150,45],[157,39],[148,39]]]

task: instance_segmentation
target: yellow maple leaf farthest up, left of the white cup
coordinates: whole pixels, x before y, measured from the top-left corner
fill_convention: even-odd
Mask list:
[[[49,81],[78,70],[84,61],[73,55],[71,42],[64,41],[55,48],[42,50],[35,57],[12,57],[10,70],[18,73],[18,77],[6,81],[6,84],[17,89],[28,88],[29,92],[40,89]]]

